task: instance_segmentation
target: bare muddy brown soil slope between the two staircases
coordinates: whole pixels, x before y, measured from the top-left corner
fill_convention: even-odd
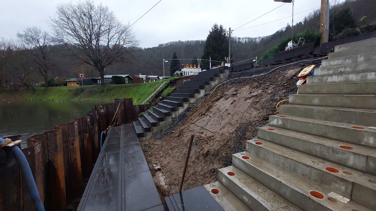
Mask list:
[[[210,98],[212,90],[207,91],[170,126],[142,142],[161,198],[179,192],[191,134],[194,141],[183,190],[216,181],[218,169],[232,165],[232,154],[245,151],[245,141],[257,135],[258,127],[268,124],[269,115],[277,114],[277,102],[296,93],[297,74],[311,64],[319,66],[321,60],[301,61],[276,70],[278,66],[230,73],[232,79],[273,70],[255,79],[225,82]]]

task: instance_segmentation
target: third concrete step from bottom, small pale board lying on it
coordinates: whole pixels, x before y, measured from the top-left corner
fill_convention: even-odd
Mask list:
[[[317,181],[293,174],[267,160],[255,157],[255,154],[247,152],[233,154],[232,162],[236,168],[302,210],[340,210],[346,205],[346,201],[340,201],[338,198],[336,200],[335,196],[331,196],[336,192],[326,184],[320,186]],[[353,205],[358,209],[368,210],[356,203]]]

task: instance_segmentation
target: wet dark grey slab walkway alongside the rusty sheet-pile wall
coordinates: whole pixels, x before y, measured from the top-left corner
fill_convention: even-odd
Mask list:
[[[164,210],[133,124],[109,130],[77,210]]]

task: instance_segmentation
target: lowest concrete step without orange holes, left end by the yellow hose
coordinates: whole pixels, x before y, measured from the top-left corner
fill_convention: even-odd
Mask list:
[[[291,94],[289,103],[297,105],[376,109],[376,95]]]

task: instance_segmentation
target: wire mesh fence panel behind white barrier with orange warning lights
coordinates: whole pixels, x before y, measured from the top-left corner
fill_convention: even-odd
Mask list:
[[[199,68],[198,58],[170,58],[163,59],[163,76],[174,76],[174,73],[179,70],[180,67]],[[192,66],[192,67],[191,67]]]

